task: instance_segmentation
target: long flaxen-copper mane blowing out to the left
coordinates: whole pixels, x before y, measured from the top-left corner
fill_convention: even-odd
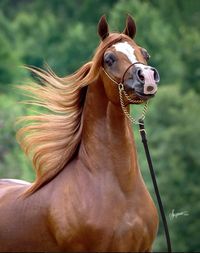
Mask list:
[[[22,86],[34,104],[49,113],[22,117],[25,122],[17,132],[17,140],[36,171],[36,180],[25,194],[31,194],[53,179],[70,161],[81,141],[82,89],[98,77],[105,50],[122,40],[123,34],[111,34],[100,43],[91,62],[74,74],[64,78],[51,70],[28,68],[38,76],[43,85],[32,83]]]

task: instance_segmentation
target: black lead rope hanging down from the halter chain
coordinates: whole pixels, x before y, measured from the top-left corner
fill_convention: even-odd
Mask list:
[[[141,119],[139,120],[139,127],[140,127],[140,135],[141,135],[142,143],[143,143],[143,146],[144,146],[147,162],[148,162],[148,165],[149,165],[149,170],[150,170],[150,174],[151,174],[155,194],[156,194],[159,209],[160,209],[160,214],[161,214],[161,217],[162,217],[162,222],[163,222],[163,226],[164,226],[164,230],[165,230],[165,237],[166,237],[168,252],[171,253],[172,248],[171,248],[171,242],[170,242],[170,236],[169,236],[167,220],[166,220],[166,217],[165,217],[165,212],[164,212],[162,200],[161,200],[160,193],[159,193],[159,190],[158,190],[158,185],[157,185],[157,182],[156,182],[156,177],[155,177],[155,173],[154,173],[154,169],[153,169],[151,155],[149,153],[149,148],[148,148],[147,138],[146,138],[146,131],[145,131],[145,127],[144,127],[144,121],[141,120]]]

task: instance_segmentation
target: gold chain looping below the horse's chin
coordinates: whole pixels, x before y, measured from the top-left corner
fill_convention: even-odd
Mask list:
[[[124,112],[124,114],[126,115],[126,117],[131,121],[132,124],[141,124],[139,123],[139,120],[144,120],[145,119],[145,115],[147,112],[147,106],[148,106],[148,101],[145,102],[143,110],[142,110],[142,114],[139,117],[138,120],[134,119],[131,114],[128,112],[128,110],[126,109],[126,106],[124,104],[124,100],[123,100],[123,94],[125,96],[125,98],[132,103],[141,103],[142,100],[132,100],[129,95],[126,93],[126,91],[124,90],[124,85],[122,83],[118,84],[118,89],[119,89],[119,99],[120,99],[120,104],[122,107],[122,110]]]

